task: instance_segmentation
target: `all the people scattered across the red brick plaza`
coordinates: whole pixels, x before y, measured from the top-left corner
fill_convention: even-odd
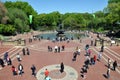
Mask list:
[[[34,37],[34,40],[36,40],[36,39],[37,38]],[[39,38],[39,40],[41,40],[41,39]],[[32,42],[32,38],[29,38],[29,43],[31,43],[31,42]],[[94,43],[96,44],[96,42],[94,42],[93,37],[91,37],[91,44],[90,45],[93,46]],[[82,76],[82,78],[86,78],[85,74],[88,72],[88,69],[90,68],[91,65],[95,65],[97,60],[101,61],[102,54],[104,52],[104,45],[102,45],[101,50],[98,53],[98,56],[97,55],[92,55],[92,50],[90,49],[90,45],[86,44],[86,46],[85,46],[85,55],[84,55],[85,56],[85,61],[84,61],[83,67],[81,68],[81,76]],[[62,46],[55,45],[54,47],[51,47],[50,45],[48,45],[48,52],[60,53],[61,51],[64,51],[65,48],[66,48],[65,45],[62,45]],[[81,49],[77,46],[75,52],[73,53],[73,59],[72,60],[76,61],[77,55],[80,55],[80,54],[81,54]],[[23,56],[30,55],[30,51],[29,51],[29,49],[27,47],[22,49],[22,55]],[[12,63],[12,60],[11,60],[11,58],[9,56],[9,52],[5,52],[4,58],[3,59],[0,58],[0,65],[2,67],[4,67],[5,64],[11,65],[11,70],[12,70],[13,75],[21,75],[22,76],[23,73],[24,73],[24,66],[21,64],[22,56],[21,56],[20,53],[17,53],[16,59],[19,62],[18,68],[16,68],[14,66],[14,63]],[[114,62],[112,62],[111,59],[108,58],[108,64],[107,64],[108,68],[107,68],[107,72],[106,72],[106,77],[107,78],[110,77],[111,69],[116,71],[117,66],[118,66],[118,63],[117,63],[116,60]],[[36,77],[36,67],[35,67],[34,64],[31,65],[30,70],[31,70],[31,75]],[[64,72],[64,64],[63,64],[63,62],[61,62],[61,64],[60,64],[60,72],[61,73]],[[45,74],[45,80],[51,80],[51,78],[49,77],[48,69],[45,70],[44,74]]]

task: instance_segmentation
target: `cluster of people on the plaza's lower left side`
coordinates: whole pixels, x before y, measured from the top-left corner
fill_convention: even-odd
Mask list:
[[[21,51],[22,54],[20,53],[17,53],[16,54],[16,59],[17,61],[19,62],[19,65],[17,66],[18,68],[15,67],[14,63],[12,63],[12,60],[9,56],[9,52],[5,52],[4,53],[4,57],[3,59],[0,58],[0,65],[2,68],[4,68],[5,66],[11,66],[11,71],[12,71],[12,74],[15,76],[15,75],[21,75],[24,73],[24,66],[21,64],[21,61],[22,61],[22,57],[25,57],[25,55],[30,55],[30,51],[27,47],[24,47]],[[36,67],[35,65],[32,65],[30,67],[30,70],[31,70],[31,74],[36,77]]]

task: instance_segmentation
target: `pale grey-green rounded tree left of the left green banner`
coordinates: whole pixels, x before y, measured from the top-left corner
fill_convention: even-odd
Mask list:
[[[13,24],[18,33],[29,31],[28,17],[18,8],[8,8],[9,23]]]

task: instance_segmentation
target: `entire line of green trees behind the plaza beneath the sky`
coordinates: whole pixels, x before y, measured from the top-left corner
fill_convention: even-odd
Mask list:
[[[108,0],[108,5],[95,13],[65,13],[58,11],[38,14],[23,1],[0,2],[0,34],[14,35],[33,30],[56,30],[62,24],[65,30],[118,31],[120,30],[120,0]],[[32,23],[29,15],[33,16]]]

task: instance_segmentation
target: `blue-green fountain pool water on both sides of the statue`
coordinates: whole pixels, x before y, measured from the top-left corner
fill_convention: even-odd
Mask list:
[[[43,34],[39,34],[39,35],[37,35],[38,37],[42,37],[42,39],[50,39],[50,40],[53,40],[53,39],[55,39],[55,38],[57,38],[57,36],[56,36],[56,34],[57,33],[43,33]],[[73,39],[78,39],[78,37],[79,38],[84,38],[85,37],[85,35],[84,34],[80,34],[80,33],[69,33],[69,32],[66,32],[66,33],[64,33],[65,34],[65,37],[67,37],[67,38],[69,38],[69,39],[71,39],[71,38],[73,38]]]

